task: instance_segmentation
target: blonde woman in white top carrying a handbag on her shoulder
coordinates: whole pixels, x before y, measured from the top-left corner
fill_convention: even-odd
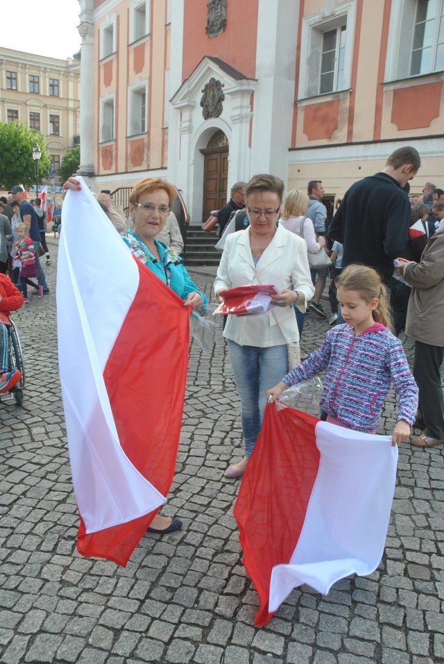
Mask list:
[[[328,265],[331,263],[330,258],[325,254],[325,238],[323,235],[316,237],[314,232],[313,222],[309,217],[305,217],[310,199],[307,194],[300,189],[292,189],[288,192],[284,200],[284,207],[282,208],[282,215],[280,217],[280,224],[284,229],[291,233],[296,233],[300,238],[303,238],[307,244],[307,257],[310,268],[315,267],[314,261],[319,259],[327,259]],[[324,265],[316,265],[316,267],[325,267]],[[298,321],[299,335],[302,337],[302,329],[304,327],[305,313],[295,309],[296,319]]]

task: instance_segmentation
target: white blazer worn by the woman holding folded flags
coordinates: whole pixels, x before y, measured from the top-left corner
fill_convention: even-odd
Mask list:
[[[305,303],[298,308],[305,312],[307,301],[314,295],[305,240],[279,225],[255,265],[250,249],[250,227],[228,235],[214,292],[256,283],[272,283],[279,290],[298,290],[305,295]],[[223,335],[241,346],[278,346],[299,340],[296,315],[289,306],[271,306],[267,313],[259,316],[229,315]]]

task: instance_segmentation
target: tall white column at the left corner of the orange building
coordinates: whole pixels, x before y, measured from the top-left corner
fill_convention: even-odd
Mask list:
[[[94,175],[94,24],[78,26],[80,47],[80,166],[78,175]]]

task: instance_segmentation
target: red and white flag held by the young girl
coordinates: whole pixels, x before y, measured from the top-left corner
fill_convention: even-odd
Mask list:
[[[268,404],[234,506],[244,565],[265,625],[291,590],[323,595],[371,574],[384,551],[398,447],[282,404]]]

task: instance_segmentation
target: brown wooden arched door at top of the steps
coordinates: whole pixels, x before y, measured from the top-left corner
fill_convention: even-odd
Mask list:
[[[203,154],[203,206],[202,221],[212,210],[219,210],[227,202],[228,190],[228,138],[216,131],[200,150]]]

